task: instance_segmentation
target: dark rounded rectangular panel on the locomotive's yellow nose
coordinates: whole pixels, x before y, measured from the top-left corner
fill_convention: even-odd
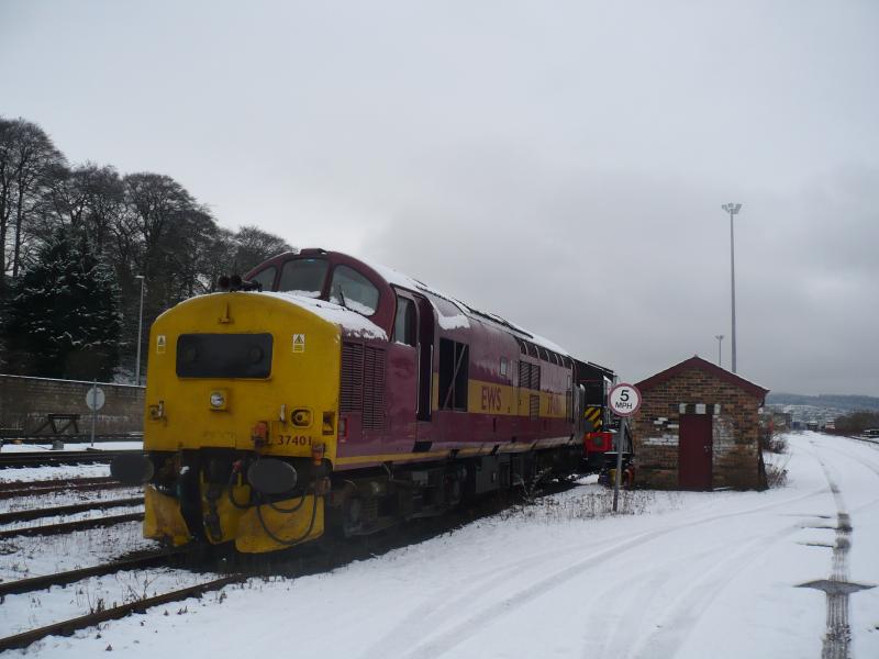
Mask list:
[[[181,334],[178,378],[268,378],[271,334]]]

